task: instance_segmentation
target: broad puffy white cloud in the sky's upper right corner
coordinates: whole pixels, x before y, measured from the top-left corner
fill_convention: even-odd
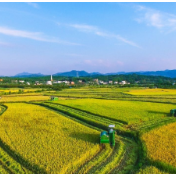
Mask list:
[[[153,26],[163,31],[173,31],[176,29],[176,15],[145,6],[135,7],[139,13],[139,17],[136,19],[137,22],[145,23],[148,26]]]

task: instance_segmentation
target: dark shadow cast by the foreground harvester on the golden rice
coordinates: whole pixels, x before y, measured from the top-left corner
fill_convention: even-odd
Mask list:
[[[75,138],[77,140],[82,140],[85,142],[90,142],[93,144],[97,144],[100,141],[100,135],[99,134],[89,134],[89,133],[81,133],[81,132],[76,132],[72,133],[70,137]]]

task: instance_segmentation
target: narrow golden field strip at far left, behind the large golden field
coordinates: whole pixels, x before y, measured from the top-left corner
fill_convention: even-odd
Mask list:
[[[24,95],[24,96],[3,96],[1,97],[0,99],[0,103],[3,102],[3,103],[6,103],[6,102],[29,102],[29,101],[43,101],[43,100],[49,100],[50,99],[50,96],[36,96],[36,95],[33,95],[33,96],[27,96],[27,95]]]

